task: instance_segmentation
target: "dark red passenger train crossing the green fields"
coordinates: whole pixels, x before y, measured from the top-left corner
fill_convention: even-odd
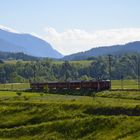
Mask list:
[[[88,89],[93,91],[108,90],[111,88],[110,81],[70,81],[70,82],[47,82],[30,83],[30,88],[36,91],[42,91],[46,87],[50,90],[57,89]]]

